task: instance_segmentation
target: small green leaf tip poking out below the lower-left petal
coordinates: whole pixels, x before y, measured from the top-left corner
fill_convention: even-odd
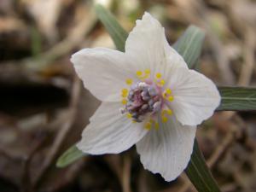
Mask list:
[[[71,148],[68,148],[67,151],[61,155],[61,157],[59,157],[56,166],[63,168],[72,164],[74,161],[79,160],[81,157],[84,157],[84,155],[85,154],[83,154],[83,152],[80,151],[79,148],[73,145]]]

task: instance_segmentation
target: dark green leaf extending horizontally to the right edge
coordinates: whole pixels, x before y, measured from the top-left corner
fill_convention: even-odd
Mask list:
[[[256,88],[218,87],[221,103],[217,110],[250,111],[256,110]]]

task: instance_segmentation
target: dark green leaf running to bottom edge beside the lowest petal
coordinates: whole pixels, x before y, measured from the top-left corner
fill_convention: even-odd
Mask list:
[[[220,192],[218,184],[212,177],[212,173],[209,171],[206,161],[201,154],[201,150],[198,147],[198,143],[195,140],[193,154],[189,161],[189,166],[185,170],[191,183],[195,185],[195,188],[200,192]]]

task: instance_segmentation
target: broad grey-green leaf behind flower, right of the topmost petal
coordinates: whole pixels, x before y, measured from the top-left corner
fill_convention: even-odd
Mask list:
[[[196,61],[201,55],[201,47],[205,38],[205,33],[196,26],[189,26],[189,28],[178,38],[177,42],[173,44],[173,48],[183,56],[184,61],[189,68],[195,68]]]

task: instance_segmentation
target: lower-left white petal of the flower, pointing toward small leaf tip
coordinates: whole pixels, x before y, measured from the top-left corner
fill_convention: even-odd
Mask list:
[[[119,103],[103,102],[90,118],[78,148],[88,154],[118,154],[141,140],[147,130],[119,112]]]

